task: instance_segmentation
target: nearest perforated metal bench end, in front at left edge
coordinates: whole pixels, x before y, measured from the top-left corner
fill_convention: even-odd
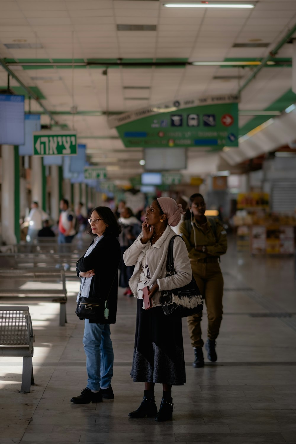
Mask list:
[[[29,307],[0,307],[0,355],[23,357],[20,393],[29,393],[34,385],[33,342],[35,336]]]

